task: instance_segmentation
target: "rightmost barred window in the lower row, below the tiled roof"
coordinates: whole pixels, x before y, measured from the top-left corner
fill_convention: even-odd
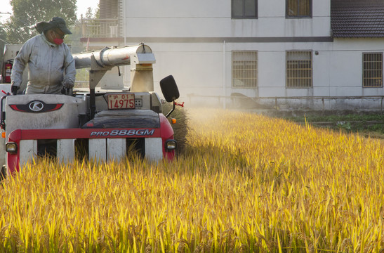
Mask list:
[[[383,53],[363,53],[363,87],[383,86]]]

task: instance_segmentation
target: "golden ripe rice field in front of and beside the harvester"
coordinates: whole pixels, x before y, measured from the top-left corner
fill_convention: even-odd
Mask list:
[[[0,252],[384,252],[383,141],[191,110],[184,153],[39,160],[0,187]]]

